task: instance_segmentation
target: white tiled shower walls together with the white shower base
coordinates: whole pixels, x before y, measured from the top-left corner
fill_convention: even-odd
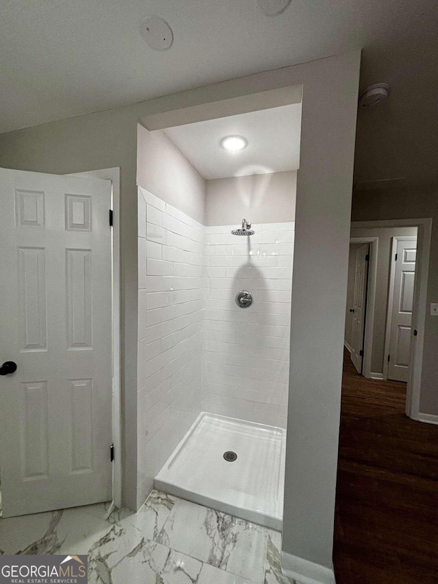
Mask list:
[[[281,529],[294,223],[209,227],[139,201],[144,490]]]

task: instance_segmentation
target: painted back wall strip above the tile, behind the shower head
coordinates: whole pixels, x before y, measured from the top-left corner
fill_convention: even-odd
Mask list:
[[[299,138],[298,138],[299,140]],[[205,225],[295,220],[296,170],[207,181]]]

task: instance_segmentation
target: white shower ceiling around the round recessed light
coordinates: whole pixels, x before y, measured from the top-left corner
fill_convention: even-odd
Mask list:
[[[297,170],[300,166],[301,104],[239,114],[165,130],[205,179]],[[244,136],[240,152],[220,147],[225,136]]]

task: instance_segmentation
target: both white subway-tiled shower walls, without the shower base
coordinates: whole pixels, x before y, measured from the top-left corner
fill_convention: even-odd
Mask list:
[[[294,223],[237,237],[142,188],[138,212],[141,505],[201,410],[286,427]]]

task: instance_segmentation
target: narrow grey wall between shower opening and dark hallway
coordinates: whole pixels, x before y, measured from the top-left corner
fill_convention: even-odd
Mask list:
[[[304,89],[282,546],[289,574],[306,571],[305,559],[322,566],[324,582],[333,578],[359,65],[359,53],[352,53],[299,66],[294,74]]]

